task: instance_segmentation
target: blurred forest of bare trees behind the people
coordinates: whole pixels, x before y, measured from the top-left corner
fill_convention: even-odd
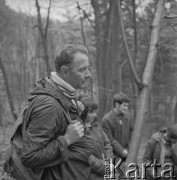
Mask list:
[[[14,8],[13,1],[0,0],[0,159],[30,89],[36,80],[54,71],[55,54],[66,43],[84,44],[89,50],[92,79],[78,94],[89,94],[99,102],[99,118],[112,107],[112,96],[123,91],[130,97],[135,119],[137,98],[144,87],[143,83],[137,83],[136,77],[141,80],[145,71],[158,3],[156,0],[30,2],[32,6],[25,12],[23,8]],[[161,127],[177,122],[176,9],[175,0],[165,1],[143,118],[143,140]],[[130,60],[136,73],[132,73]]]

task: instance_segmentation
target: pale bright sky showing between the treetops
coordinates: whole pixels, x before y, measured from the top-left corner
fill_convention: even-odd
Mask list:
[[[137,11],[142,14],[142,10],[147,3],[152,0],[137,0],[141,6]],[[28,15],[36,15],[35,0],[6,0],[7,5],[16,11],[27,13]],[[68,16],[77,17],[77,2],[85,9],[91,8],[90,0],[52,0],[51,18],[58,21],[67,21]],[[39,0],[41,5],[41,13],[43,16],[47,14],[49,0]],[[144,13],[144,12],[143,12]]]

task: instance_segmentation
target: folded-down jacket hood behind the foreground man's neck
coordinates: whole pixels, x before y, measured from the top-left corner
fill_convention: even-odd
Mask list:
[[[38,95],[52,96],[60,102],[64,109],[70,109],[71,112],[77,111],[77,107],[63,94],[60,88],[52,81],[51,77],[36,81],[33,89],[30,91],[28,101],[32,101]]]

